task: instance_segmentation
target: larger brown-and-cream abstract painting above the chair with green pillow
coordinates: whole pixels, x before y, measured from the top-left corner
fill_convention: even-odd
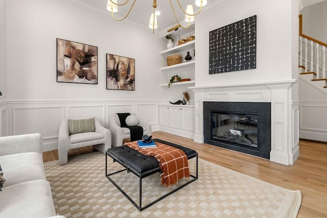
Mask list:
[[[57,82],[98,84],[98,47],[57,38]]]

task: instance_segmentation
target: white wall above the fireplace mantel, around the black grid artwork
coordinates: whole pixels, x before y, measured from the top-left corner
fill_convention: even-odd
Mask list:
[[[290,0],[227,1],[196,19],[196,86],[283,81],[292,78]],[[208,74],[209,31],[257,15],[256,69]],[[287,37],[284,37],[287,36]],[[282,52],[281,52],[282,51]]]

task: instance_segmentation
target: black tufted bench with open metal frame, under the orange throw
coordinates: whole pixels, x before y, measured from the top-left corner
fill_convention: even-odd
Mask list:
[[[107,150],[106,152],[106,177],[107,179],[110,180],[110,182],[116,186],[116,188],[118,188],[118,190],[120,190],[123,195],[139,210],[142,211],[148,207],[150,207],[151,205],[155,204],[156,202],[166,198],[167,196],[171,195],[172,193],[174,193],[175,191],[181,189],[182,187],[190,184],[191,182],[194,182],[195,180],[198,179],[198,153],[192,149],[189,148],[185,148],[183,146],[180,146],[178,144],[174,144],[168,141],[164,141],[161,139],[153,139],[156,142],[160,142],[160,143],[164,143],[167,144],[168,146],[172,146],[175,148],[178,148],[180,150],[182,150],[185,155],[188,157],[188,159],[192,159],[194,157],[196,157],[196,175],[191,175],[191,177],[193,178],[192,180],[182,184],[181,186],[173,189],[172,191],[170,191],[169,193],[167,193],[166,195],[154,200],[153,202],[147,204],[146,206],[142,207],[142,179],[145,177],[148,177],[154,173],[158,173],[161,172],[160,171],[160,167],[159,167],[159,162],[157,161],[157,159],[155,157],[149,157],[146,155],[143,155],[141,153],[139,153],[138,151],[135,151],[134,149],[129,148],[128,146],[120,146],[120,147],[114,147],[114,148],[110,148]],[[108,174],[107,172],[107,157],[111,157],[113,159],[113,162],[118,162],[120,163],[122,166],[125,167],[125,169],[122,169],[121,171],[117,171],[117,172],[113,172]],[[139,178],[139,204],[136,204],[135,201],[133,201],[128,195],[127,193],[125,193],[124,190],[122,190],[121,187],[119,187],[118,184],[116,184],[111,178],[110,176],[114,175],[114,174],[118,174],[121,173],[123,171],[127,171],[132,172],[134,175],[136,175]],[[158,184],[161,185],[161,184]]]

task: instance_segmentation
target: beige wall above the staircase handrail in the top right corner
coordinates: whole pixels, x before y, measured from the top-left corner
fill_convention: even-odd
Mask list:
[[[302,33],[327,43],[327,0],[305,7],[302,14]]]

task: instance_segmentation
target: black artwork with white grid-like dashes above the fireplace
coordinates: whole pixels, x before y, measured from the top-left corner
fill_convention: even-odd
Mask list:
[[[209,32],[209,74],[256,68],[256,15]]]

